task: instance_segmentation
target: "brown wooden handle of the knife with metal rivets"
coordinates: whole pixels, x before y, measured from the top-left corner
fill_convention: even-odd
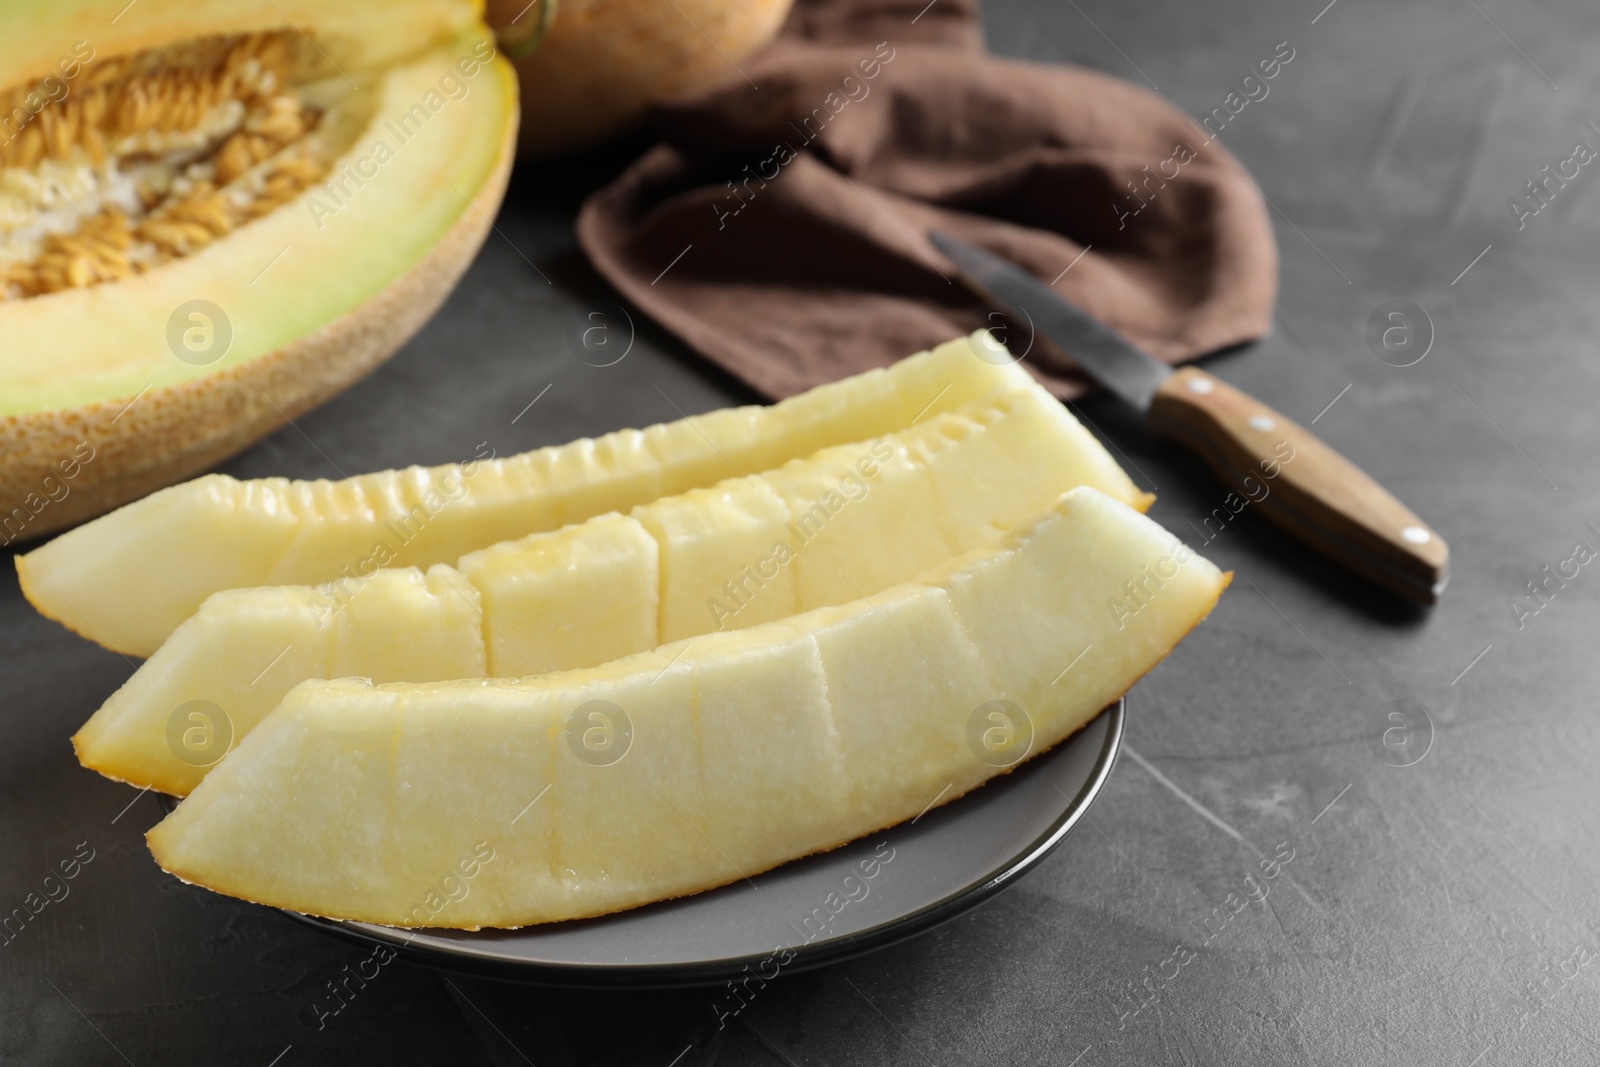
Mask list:
[[[1235,488],[1205,520],[1208,536],[1238,512],[1262,515],[1349,569],[1435,603],[1450,547],[1411,509],[1315,434],[1192,366],[1150,402],[1150,429],[1205,456]]]

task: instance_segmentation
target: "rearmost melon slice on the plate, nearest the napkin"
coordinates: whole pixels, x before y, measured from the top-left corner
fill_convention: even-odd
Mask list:
[[[1027,371],[979,358],[994,344],[979,333],[773,406],[723,408],[504,459],[344,482],[206,475],[18,557],[18,573],[45,616],[107,648],[149,656],[221,589],[454,563],[499,541],[768,470],[997,389],[1032,386]],[[1112,477],[1115,464],[1106,464]]]

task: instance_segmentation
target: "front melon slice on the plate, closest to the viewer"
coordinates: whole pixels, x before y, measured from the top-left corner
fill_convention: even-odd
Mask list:
[[[1123,582],[1149,587],[1139,609],[1112,609]],[[221,893],[398,926],[698,893],[1050,749],[1226,582],[1085,486],[917,582],[787,621],[520,681],[307,681],[149,843]],[[998,737],[994,701],[1011,709]],[[466,891],[442,896],[445,877]]]

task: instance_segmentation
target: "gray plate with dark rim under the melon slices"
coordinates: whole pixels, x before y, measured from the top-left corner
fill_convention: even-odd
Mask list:
[[[1011,774],[917,819],[747,881],[523,929],[394,929],[285,912],[429,966],[539,985],[651,989],[773,977],[904,941],[1034,869],[1110,776],[1123,701]],[[875,861],[875,862],[874,862]],[[867,877],[870,872],[870,877]]]

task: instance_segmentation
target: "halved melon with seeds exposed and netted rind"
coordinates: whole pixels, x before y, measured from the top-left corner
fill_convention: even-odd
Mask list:
[[[504,190],[467,0],[0,8],[0,542],[238,451],[394,352]]]

